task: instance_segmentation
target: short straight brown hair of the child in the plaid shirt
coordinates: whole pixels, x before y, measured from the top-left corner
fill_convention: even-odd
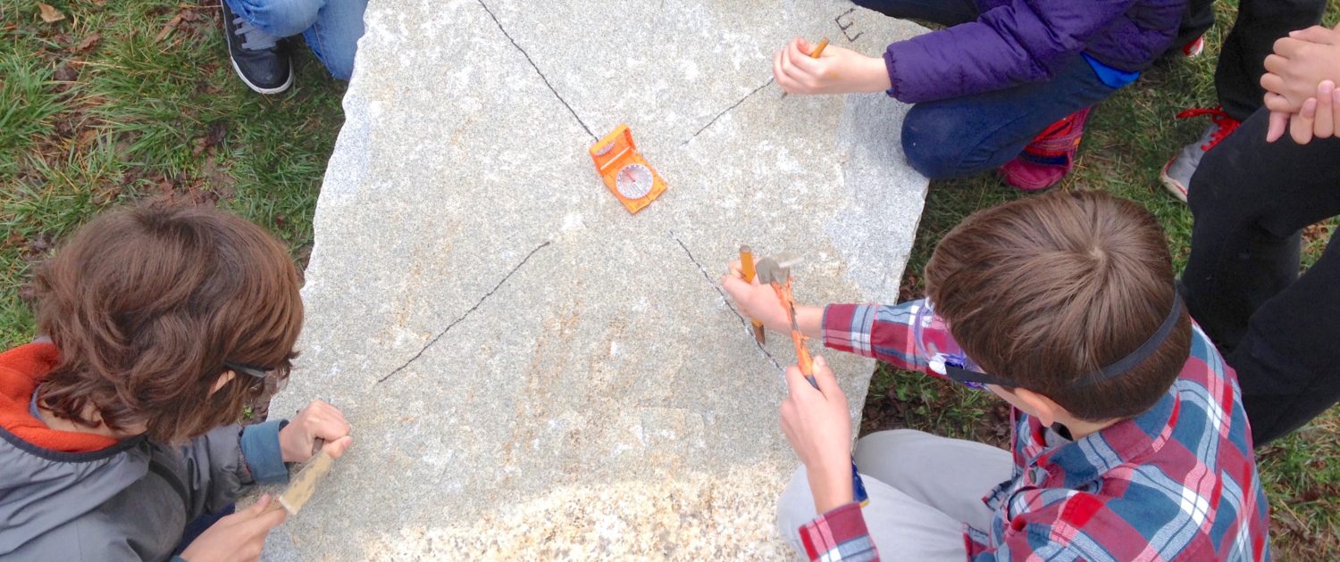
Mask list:
[[[973,214],[935,248],[926,285],[969,357],[1080,419],[1147,411],[1190,353],[1183,309],[1148,359],[1107,381],[1072,385],[1148,340],[1177,294],[1158,221],[1103,191],[1053,191]]]

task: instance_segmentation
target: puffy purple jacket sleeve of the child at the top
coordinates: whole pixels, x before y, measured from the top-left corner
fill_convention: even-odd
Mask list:
[[[1135,0],[1013,0],[963,23],[896,41],[884,52],[906,103],[1045,82],[1111,27]]]

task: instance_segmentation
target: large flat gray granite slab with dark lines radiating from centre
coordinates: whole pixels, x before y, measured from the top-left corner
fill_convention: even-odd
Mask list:
[[[793,351],[756,347],[717,278],[750,244],[805,257],[801,301],[891,301],[927,182],[904,106],[779,99],[772,52],[922,28],[819,0],[373,0],[366,20],[272,408],[330,397],[356,443],[267,558],[787,557]],[[669,185],[638,215],[587,155],[620,122]],[[872,364],[825,356],[858,420]]]

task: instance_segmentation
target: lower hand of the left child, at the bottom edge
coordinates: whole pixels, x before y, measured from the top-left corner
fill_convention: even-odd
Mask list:
[[[269,495],[236,514],[218,519],[181,553],[186,562],[259,561],[265,535],[288,518],[288,511],[265,508]]]

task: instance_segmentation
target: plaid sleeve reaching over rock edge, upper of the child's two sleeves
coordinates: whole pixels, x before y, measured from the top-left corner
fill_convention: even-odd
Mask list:
[[[904,371],[923,371],[926,357],[918,353],[913,322],[925,300],[898,305],[831,304],[824,308],[824,345],[872,357]],[[949,339],[942,329],[927,328],[922,337],[937,341]]]

